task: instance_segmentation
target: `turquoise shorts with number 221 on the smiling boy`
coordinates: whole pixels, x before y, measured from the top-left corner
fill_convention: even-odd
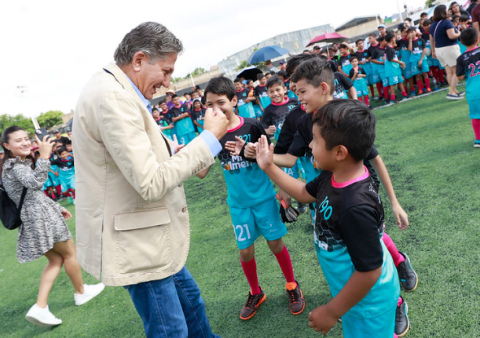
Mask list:
[[[250,208],[230,206],[230,216],[240,250],[250,247],[260,236],[267,241],[275,241],[287,234],[287,227],[280,218],[280,207],[275,197]]]

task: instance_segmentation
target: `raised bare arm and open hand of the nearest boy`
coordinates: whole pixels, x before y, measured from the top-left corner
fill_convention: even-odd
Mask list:
[[[290,155],[292,156],[292,155]],[[257,163],[280,189],[300,203],[313,203],[315,197],[307,192],[306,184],[291,177],[273,163],[273,143],[268,145],[265,135],[258,140]]]

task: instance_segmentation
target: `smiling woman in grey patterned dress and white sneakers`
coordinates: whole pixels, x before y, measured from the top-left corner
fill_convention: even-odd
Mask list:
[[[48,259],[40,281],[37,302],[28,311],[26,319],[39,326],[54,326],[61,324],[62,320],[49,311],[48,295],[63,265],[75,289],[76,305],[86,303],[105,286],[102,283],[83,284],[75,243],[65,222],[72,214],[42,192],[50,169],[49,157],[53,140],[46,136],[43,142],[38,138],[37,142],[40,158],[35,166],[27,133],[17,126],[5,129],[2,134],[5,157],[0,164],[0,175],[5,191],[17,206],[23,188],[27,188],[20,213],[22,225],[18,228],[18,261],[30,262],[42,256]]]

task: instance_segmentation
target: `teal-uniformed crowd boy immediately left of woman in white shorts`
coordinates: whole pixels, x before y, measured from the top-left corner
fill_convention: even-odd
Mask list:
[[[430,88],[430,78],[428,77],[428,72],[430,68],[428,67],[428,61],[425,57],[427,52],[427,46],[425,41],[422,38],[417,37],[416,28],[410,27],[407,31],[408,34],[408,50],[410,51],[410,63],[412,75],[415,75],[418,86],[418,94],[423,94],[423,79],[425,80],[425,85],[427,86],[427,93],[430,93],[432,89]]]

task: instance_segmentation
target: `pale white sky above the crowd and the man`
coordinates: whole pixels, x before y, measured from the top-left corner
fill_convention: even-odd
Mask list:
[[[145,21],[165,25],[183,43],[174,77],[209,69],[275,35],[355,17],[398,13],[397,0],[22,0],[0,11],[0,114],[36,117],[75,109],[84,85],[131,29]],[[401,8],[424,0],[398,0]],[[293,7],[292,4],[295,6]],[[336,6],[338,4],[338,6]],[[21,94],[17,87],[26,87]]]

